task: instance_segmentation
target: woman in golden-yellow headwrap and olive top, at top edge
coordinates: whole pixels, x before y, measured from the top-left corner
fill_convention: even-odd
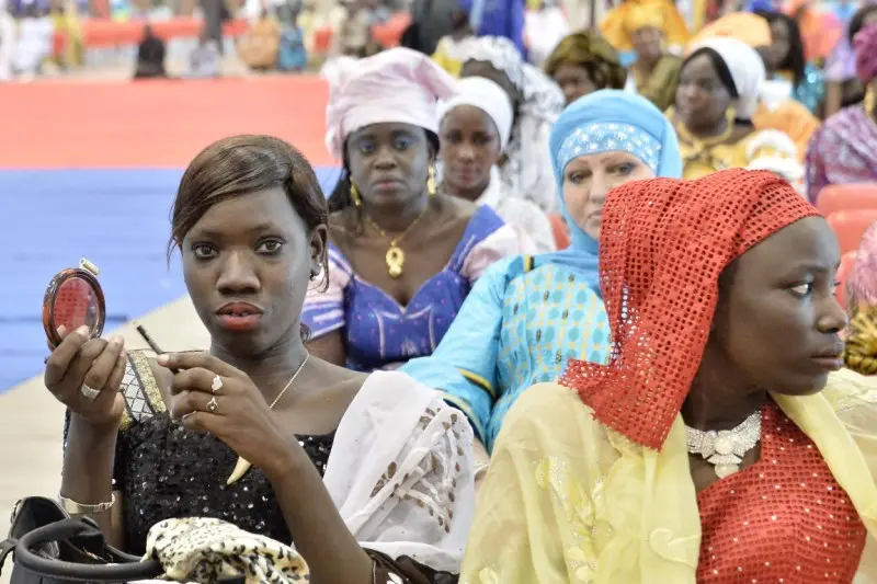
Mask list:
[[[627,11],[625,30],[637,60],[630,66],[626,89],[663,112],[676,100],[682,57],[665,50],[662,27],[663,14],[654,3],[634,4]]]

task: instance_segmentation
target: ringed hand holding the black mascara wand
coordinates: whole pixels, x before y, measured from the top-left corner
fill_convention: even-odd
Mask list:
[[[174,373],[171,417],[209,432],[267,473],[288,465],[298,443],[277,426],[247,374],[208,353],[164,354],[157,363]]]

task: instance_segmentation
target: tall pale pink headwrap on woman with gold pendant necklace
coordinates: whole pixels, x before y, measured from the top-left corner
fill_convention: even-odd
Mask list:
[[[454,78],[415,50],[397,47],[344,62],[329,79],[326,147],[341,159],[344,140],[372,124],[396,122],[438,131],[437,100],[454,94]]]

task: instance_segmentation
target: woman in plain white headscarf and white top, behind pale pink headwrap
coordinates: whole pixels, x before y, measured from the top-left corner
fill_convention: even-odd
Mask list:
[[[438,141],[441,191],[491,207],[525,231],[539,253],[554,251],[555,238],[545,213],[505,188],[497,165],[509,146],[514,114],[509,95],[493,81],[467,77],[457,94],[443,104]]]

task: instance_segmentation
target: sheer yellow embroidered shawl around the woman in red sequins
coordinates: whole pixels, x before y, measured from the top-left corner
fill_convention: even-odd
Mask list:
[[[868,531],[858,575],[877,577],[877,380],[843,370],[819,394],[773,399],[858,511]],[[596,422],[574,390],[535,386],[493,449],[462,582],[694,584],[703,535],[696,496],[681,416],[654,451]],[[741,525],[732,537],[747,534]],[[725,582],[743,582],[737,577]],[[815,582],[802,577],[788,582]]]

